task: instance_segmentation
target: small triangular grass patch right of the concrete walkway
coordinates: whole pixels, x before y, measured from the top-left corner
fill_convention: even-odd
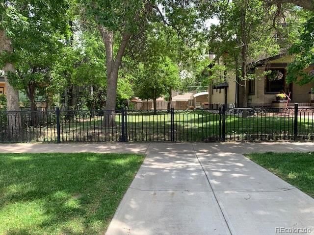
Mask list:
[[[254,153],[249,159],[314,197],[313,153]]]

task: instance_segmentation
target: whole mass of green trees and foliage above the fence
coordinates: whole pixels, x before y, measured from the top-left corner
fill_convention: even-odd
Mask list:
[[[31,110],[44,96],[51,108],[113,111],[230,73],[246,100],[252,62],[287,50],[288,81],[314,80],[312,0],[6,0],[0,14],[8,110],[17,90]]]

